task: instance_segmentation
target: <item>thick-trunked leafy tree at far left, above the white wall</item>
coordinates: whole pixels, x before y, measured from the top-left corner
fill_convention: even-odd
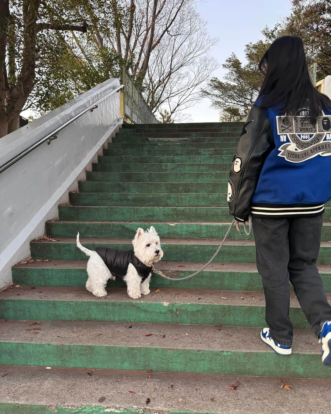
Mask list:
[[[86,32],[76,6],[45,0],[0,0],[0,137],[17,129],[31,92],[47,82],[48,58],[58,54],[57,33]]]

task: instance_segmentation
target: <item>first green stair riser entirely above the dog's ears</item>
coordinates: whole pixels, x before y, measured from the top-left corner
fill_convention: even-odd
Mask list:
[[[228,213],[228,207],[59,206],[60,220],[230,221]],[[330,207],[323,219],[331,221]]]

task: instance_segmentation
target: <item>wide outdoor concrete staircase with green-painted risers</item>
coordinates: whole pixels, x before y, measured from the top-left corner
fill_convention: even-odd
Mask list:
[[[153,225],[164,250],[158,267],[172,277],[209,260],[231,220],[225,193],[241,129],[123,126],[0,294],[1,413],[330,412],[331,370],[294,293],[293,354],[278,356],[259,339],[264,294],[253,237],[233,230],[201,276],[154,276],[138,300],[118,279],[103,299],[84,288],[77,231],[91,249],[130,248],[137,227]],[[330,221],[329,204],[319,257],[328,292]]]

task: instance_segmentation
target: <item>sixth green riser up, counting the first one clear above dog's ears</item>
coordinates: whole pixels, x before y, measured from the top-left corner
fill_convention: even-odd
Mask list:
[[[231,163],[233,154],[228,155],[103,155],[103,161],[110,164],[220,164]]]

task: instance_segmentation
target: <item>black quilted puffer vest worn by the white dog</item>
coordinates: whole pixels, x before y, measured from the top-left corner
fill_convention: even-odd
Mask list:
[[[135,255],[133,250],[109,249],[107,247],[96,247],[96,253],[105,262],[110,273],[115,277],[123,279],[127,274],[127,268],[131,263],[137,270],[144,282],[151,273],[152,267],[144,265]]]

